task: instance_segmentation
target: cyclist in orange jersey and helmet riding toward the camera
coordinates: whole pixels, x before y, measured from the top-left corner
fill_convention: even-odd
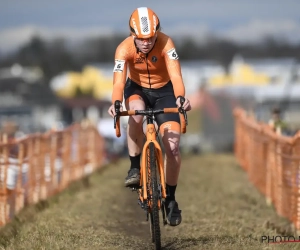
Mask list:
[[[172,39],[161,32],[158,16],[147,7],[133,11],[129,19],[130,36],[115,52],[113,69],[112,105],[108,113],[113,117],[115,101],[123,101],[127,110],[179,107],[185,96],[179,57]],[[127,77],[127,68],[129,70]],[[127,77],[127,79],[126,79]],[[188,99],[182,105],[188,111]],[[140,156],[143,147],[143,116],[131,116],[127,127],[127,146],[131,166],[125,186],[140,183]],[[181,165],[179,152],[180,119],[178,114],[160,114],[156,123],[165,148],[166,212],[171,226],[181,223],[181,210],[175,200],[175,191]]]

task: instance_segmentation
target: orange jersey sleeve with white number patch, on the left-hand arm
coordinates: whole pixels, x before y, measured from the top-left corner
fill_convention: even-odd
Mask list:
[[[120,44],[115,52],[115,66],[113,69],[112,103],[123,102],[123,90],[127,76],[127,52],[125,44]]]

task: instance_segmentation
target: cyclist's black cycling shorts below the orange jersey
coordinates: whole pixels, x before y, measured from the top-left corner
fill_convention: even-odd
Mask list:
[[[127,78],[124,97],[125,101],[132,95],[139,95],[143,98],[146,107],[153,109],[163,109],[163,108],[176,108],[176,98],[174,95],[173,84],[169,81],[165,86],[158,89],[144,88],[137,83],[133,82],[130,78]],[[180,124],[179,114],[158,114],[155,116],[158,128],[160,125],[174,121]]]

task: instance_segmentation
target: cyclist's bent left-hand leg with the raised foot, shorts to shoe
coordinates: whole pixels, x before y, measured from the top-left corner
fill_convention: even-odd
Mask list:
[[[145,96],[140,87],[127,80],[124,90],[126,109],[145,109]],[[140,157],[144,142],[143,116],[130,116],[127,126],[127,146],[131,162],[128,175],[125,178],[125,186],[138,185],[140,183]]]

